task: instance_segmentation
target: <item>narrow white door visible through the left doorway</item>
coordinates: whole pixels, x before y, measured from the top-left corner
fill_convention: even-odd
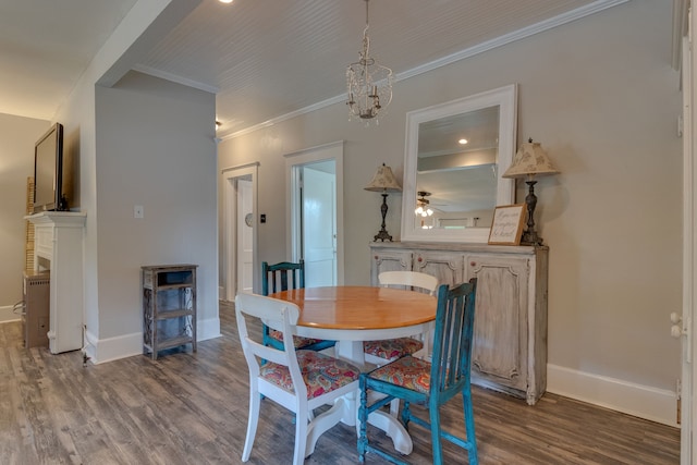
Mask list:
[[[237,179],[237,292],[252,292],[254,266],[254,213],[252,211],[252,180]]]

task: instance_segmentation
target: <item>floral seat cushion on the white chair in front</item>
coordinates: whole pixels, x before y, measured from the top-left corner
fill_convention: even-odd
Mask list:
[[[358,379],[360,370],[347,362],[315,351],[297,351],[297,364],[307,386],[307,399],[342,388]],[[261,378],[293,392],[293,380],[285,365],[267,362],[259,368]]]

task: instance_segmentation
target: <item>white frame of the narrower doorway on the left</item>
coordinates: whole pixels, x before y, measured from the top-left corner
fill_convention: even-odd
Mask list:
[[[258,171],[259,162],[241,164],[237,167],[224,168],[221,174],[223,184],[223,276],[225,277],[224,297],[227,301],[234,301],[237,292],[237,188],[235,180],[239,178],[252,176],[252,268],[253,268],[253,289],[255,292],[259,290],[257,279],[257,262],[259,261],[259,253],[257,244],[259,243],[259,229],[257,221],[257,198],[258,198]]]

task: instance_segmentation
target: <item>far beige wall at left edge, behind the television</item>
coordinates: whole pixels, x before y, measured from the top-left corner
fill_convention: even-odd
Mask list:
[[[27,178],[34,175],[34,143],[49,122],[0,113],[0,321],[22,301]]]

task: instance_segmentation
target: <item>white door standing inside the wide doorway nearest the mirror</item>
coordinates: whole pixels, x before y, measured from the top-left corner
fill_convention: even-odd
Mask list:
[[[334,161],[302,167],[303,257],[305,286],[337,284],[337,210]]]

